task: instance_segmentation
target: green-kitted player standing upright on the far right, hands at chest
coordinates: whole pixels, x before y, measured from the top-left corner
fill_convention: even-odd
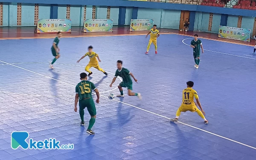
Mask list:
[[[204,53],[203,45],[200,39],[198,39],[198,35],[194,35],[194,40],[191,41],[190,47],[193,48],[193,55],[195,58],[195,68],[198,69],[200,62],[200,47],[202,48],[202,53]]]

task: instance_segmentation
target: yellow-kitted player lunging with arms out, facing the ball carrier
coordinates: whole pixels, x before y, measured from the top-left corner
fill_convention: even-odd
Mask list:
[[[97,70],[99,71],[102,71],[106,76],[108,76],[108,73],[106,73],[101,67],[99,67],[99,63],[96,59],[96,57],[98,58],[99,62],[101,62],[101,60],[99,59],[99,55],[95,52],[93,52],[93,47],[92,46],[89,46],[88,47],[88,52],[82,56],[78,61],[77,63],[79,63],[79,61],[81,61],[81,59],[83,59],[84,57],[86,56],[89,56],[90,58],[90,62],[87,64],[87,66],[85,67],[85,71],[88,72],[88,76],[92,75],[93,73],[89,70],[91,67],[94,67],[96,68]]]

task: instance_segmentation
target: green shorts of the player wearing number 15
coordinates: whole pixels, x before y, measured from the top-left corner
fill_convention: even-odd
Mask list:
[[[79,110],[87,108],[91,116],[96,115],[96,107],[92,98],[79,100]]]

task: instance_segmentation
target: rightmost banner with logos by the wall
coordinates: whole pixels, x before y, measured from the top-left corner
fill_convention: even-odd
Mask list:
[[[219,26],[218,37],[250,42],[250,29]]]

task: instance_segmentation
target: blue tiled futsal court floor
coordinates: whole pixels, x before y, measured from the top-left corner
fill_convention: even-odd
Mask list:
[[[189,38],[189,39],[188,39]],[[61,58],[49,70],[53,39],[0,40],[0,160],[256,160],[256,56],[253,47],[201,39],[205,53],[196,70],[191,37],[160,35],[158,54],[144,35],[61,38]],[[92,69],[90,80],[101,92],[96,104],[95,135],[80,126],[73,111],[75,85],[89,58],[79,58],[92,45],[109,76]],[[119,94],[122,60],[138,79],[134,91]],[[209,124],[197,113],[175,118],[186,81],[194,81]],[[112,90],[112,91],[111,91]],[[125,93],[127,90],[125,89]],[[13,131],[33,140],[55,138],[73,150],[11,148]]]

